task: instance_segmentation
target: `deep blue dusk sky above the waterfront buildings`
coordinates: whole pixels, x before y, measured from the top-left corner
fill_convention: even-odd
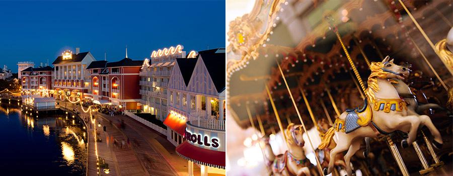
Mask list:
[[[224,1],[3,2],[0,65],[49,64],[65,49],[90,51],[96,60],[148,58],[181,44],[190,50],[225,47]]]

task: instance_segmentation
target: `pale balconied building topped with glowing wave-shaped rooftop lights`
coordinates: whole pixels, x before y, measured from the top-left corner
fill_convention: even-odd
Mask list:
[[[183,51],[182,45],[159,49],[151,53],[150,59],[145,59],[140,70],[140,103],[142,111],[156,115],[156,119],[164,121],[168,115],[168,90],[172,68],[176,58],[195,57],[195,51]]]

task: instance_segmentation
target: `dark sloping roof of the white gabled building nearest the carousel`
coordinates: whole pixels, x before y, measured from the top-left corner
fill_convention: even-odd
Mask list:
[[[198,52],[214,82],[215,89],[221,93],[225,88],[225,48],[216,48]]]

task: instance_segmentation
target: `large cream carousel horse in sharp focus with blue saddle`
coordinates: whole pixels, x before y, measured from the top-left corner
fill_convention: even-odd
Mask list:
[[[408,115],[406,103],[389,81],[392,78],[404,79],[403,76],[409,74],[408,68],[393,63],[393,59],[390,60],[387,56],[382,62],[372,62],[370,70],[364,106],[361,109],[348,109],[343,112],[318,147],[324,149],[329,146],[335,135],[337,145],[330,151],[330,158],[335,158],[338,153],[348,150],[344,156],[348,175],[352,174],[351,157],[360,149],[363,138],[400,130],[408,132],[408,138],[401,141],[402,146],[407,147],[417,137],[420,119],[429,118]],[[331,159],[329,167],[324,169],[324,174],[331,173],[333,166],[334,160]]]

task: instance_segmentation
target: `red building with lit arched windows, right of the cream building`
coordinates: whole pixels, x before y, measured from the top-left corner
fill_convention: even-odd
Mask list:
[[[90,76],[90,89],[86,98],[100,104],[111,103],[124,110],[141,109],[138,82],[143,60],[127,57],[117,62],[93,61],[87,67]],[[121,105],[121,106],[120,106]]]

